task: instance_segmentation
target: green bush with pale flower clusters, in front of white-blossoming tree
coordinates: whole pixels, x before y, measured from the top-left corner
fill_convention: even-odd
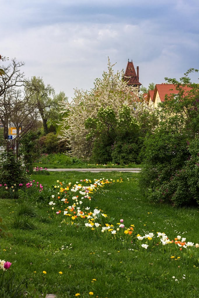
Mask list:
[[[95,139],[91,160],[102,164],[141,162],[144,137],[157,124],[154,113],[143,111],[138,114],[137,121],[130,108],[123,105],[118,115],[108,106],[101,107],[97,116],[85,121],[85,127],[90,131],[87,139]],[[148,125],[151,121],[153,124]]]

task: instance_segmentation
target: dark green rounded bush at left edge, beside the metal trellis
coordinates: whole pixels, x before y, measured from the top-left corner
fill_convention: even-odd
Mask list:
[[[0,181],[1,184],[7,184],[8,187],[26,181],[26,174],[21,162],[13,155],[12,151],[1,153],[0,164]]]

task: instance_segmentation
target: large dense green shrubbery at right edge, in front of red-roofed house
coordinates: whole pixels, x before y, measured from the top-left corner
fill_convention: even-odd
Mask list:
[[[139,179],[150,200],[175,206],[199,202],[199,86],[188,74],[181,82],[168,79],[177,84],[178,98],[167,96],[157,111],[161,122],[144,141]]]

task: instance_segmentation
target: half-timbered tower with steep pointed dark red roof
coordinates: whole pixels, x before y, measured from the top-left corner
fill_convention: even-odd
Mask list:
[[[140,92],[140,86],[142,84],[139,82],[139,66],[137,66],[137,74],[136,74],[133,61],[132,60],[129,61],[129,59],[128,59],[127,68],[124,74],[124,80],[127,82],[127,86],[132,91],[137,91],[138,93]]]

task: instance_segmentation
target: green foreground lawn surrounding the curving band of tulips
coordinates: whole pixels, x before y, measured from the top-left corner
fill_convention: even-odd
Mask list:
[[[111,233],[101,233],[101,227],[92,231],[61,223],[64,216],[54,212],[59,208],[55,205],[52,211],[48,203],[37,205],[38,217],[33,219],[37,229],[14,229],[11,222],[21,203],[0,199],[0,216],[13,233],[12,238],[1,240],[1,260],[12,262],[10,269],[16,272],[18,280],[27,278],[40,290],[46,285],[48,293],[58,298],[72,298],[78,293],[80,298],[199,297],[199,248],[192,247],[188,254],[189,248],[181,251],[176,246],[173,254],[169,249],[166,252],[166,246],[163,253],[164,247],[156,245],[157,232],[165,232],[170,240],[181,235],[186,241],[198,243],[199,209],[149,203],[138,189],[138,175],[74,171],[33,176],[48,187],[56,184],[57,179],[74,184],[86,178],[93,181],[121,177],[123,182],[105,185],[94,193],[89,204],[91,210],[98,207],[113,217],[114,223],[124,219],[125,227],[135,225],[132,238],[125,242]],[[155,245],[139,247],[136,235],[149,232],[155,234]]]

